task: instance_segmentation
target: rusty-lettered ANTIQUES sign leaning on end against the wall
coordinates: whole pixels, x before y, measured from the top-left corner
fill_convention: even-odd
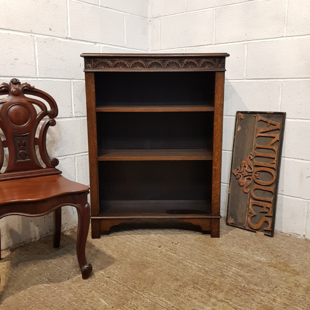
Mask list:
[[[237,112],[226,224],[273,237],[284,112]]]

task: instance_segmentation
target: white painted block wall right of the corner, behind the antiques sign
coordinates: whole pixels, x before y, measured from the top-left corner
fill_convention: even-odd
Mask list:
[[[276,230],[310,239],[310,2],[151,0],[152,52],[227,52],[221,213],[234,115],[286,112]]]

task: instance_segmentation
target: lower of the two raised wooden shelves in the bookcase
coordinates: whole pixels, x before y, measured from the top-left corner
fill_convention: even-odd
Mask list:
[[[139,149],[101,150],[98,161],[119,160],[212,160],[212,151],[206,149]]]

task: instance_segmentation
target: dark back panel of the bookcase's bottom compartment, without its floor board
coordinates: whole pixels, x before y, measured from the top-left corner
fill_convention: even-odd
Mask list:
[[[210,200],[211,161],[100,162],[101,200]]]

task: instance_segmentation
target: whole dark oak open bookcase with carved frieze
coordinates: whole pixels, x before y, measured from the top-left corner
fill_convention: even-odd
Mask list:
[[[91,233],[172,219],[219,237],[225,57],[82,54]]]

